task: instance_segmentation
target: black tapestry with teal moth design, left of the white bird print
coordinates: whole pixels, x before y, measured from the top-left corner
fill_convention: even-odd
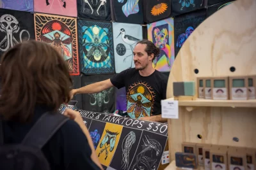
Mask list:
[[[78,20],[79,55],[84,74],[115,73],[110,22]]]

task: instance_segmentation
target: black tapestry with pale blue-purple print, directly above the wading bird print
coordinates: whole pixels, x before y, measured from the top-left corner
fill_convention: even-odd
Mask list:
[[[116,22],[143,24],[143,1],[142,0],[111,0]],[[151,1],[151,0],[150,0]]]

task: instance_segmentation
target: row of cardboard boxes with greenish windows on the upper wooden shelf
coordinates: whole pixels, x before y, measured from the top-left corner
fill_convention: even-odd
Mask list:
[[[198,98],[213,100],[255,99],[256,76],[197,78]]]

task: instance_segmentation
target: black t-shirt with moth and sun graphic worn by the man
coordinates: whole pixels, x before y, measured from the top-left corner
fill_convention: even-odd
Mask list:
[[[141,76],[135,68],[126,69],[110,79],[118,89],[125,87],[127,114],[131,118],[161,114],[161,100],[166,99],[168,76],[155,70]]]

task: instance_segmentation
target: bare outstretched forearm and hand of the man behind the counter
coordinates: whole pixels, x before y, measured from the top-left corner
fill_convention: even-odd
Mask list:
[[[111,83],[110,79],[99,81],[97,83],[92,83],[90,85],[86,85],[84,87],[81,87],[79,89],[73,89],[70,92],[70,96],[73,98],[76,94],[92,94],[92,93],[99,93],[103,90],[109,89],[110,87],[113,87],[113,84]]]

